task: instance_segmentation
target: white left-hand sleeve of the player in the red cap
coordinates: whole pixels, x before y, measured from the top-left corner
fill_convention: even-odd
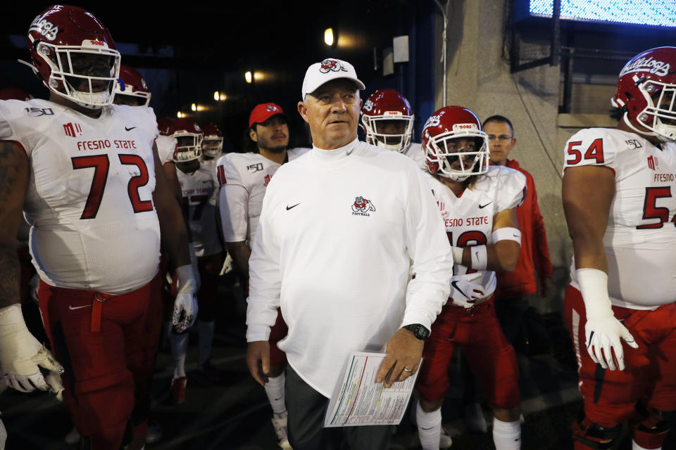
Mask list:
[[[216,162],[216,176],[220,184],[218,210],[225,242],[247,240],[249,231],[249,191],[244,186],[234,158],[234,153],[228,153]]]

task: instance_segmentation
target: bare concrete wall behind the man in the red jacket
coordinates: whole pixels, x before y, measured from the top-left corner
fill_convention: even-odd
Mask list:
[[[500,114],[514,124],[518,142],[510,157],[529,171],[537,186],[554,266],[555,289],[541,311],[561,310],[568,285],[572,245],[561,205],[565,141],[582,127],[614,126],[605,115],[558,115],[560,68],[544,65],[511,74],[504,54],[506,0],[449,0],[447,102],[473,110],[480,119]],[[440,55],[442,19],[437,21]],[[437,64],[437,108],[442,107],[442,65]]]

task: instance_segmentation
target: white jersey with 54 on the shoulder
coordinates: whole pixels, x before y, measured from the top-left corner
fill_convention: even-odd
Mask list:
[[[653,309],[676,300],[676,144],[660,149],[638,134],[590,128],[572,136],[564,151],[564,171],[594,165],[615,173],[603,236],[611,302]],[[579,288],[574,259],[570,274]]]

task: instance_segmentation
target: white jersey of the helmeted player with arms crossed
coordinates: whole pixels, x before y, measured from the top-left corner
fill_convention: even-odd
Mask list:
[[[524,174],[504,166],[490,166],[460,197],[434,176],[427,172],[425,176],[442,212],[449,242],[456,247],[494,244],[494,215],[518,207],[526,196]],[[472,278],[468,281],[482,285],[487,296],[495,292],[494,271],[475,271],[455,264],[453,279],[458,278]]]

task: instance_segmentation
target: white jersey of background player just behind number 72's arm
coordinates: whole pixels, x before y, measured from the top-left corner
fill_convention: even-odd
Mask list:
[[[216,231],[218,181],[215,179],[214,167],[215,162],[200,161],[199,169],[187,174],[176,167],[183,198],[188,205],[192,245],[198,257],[222,251]]]

